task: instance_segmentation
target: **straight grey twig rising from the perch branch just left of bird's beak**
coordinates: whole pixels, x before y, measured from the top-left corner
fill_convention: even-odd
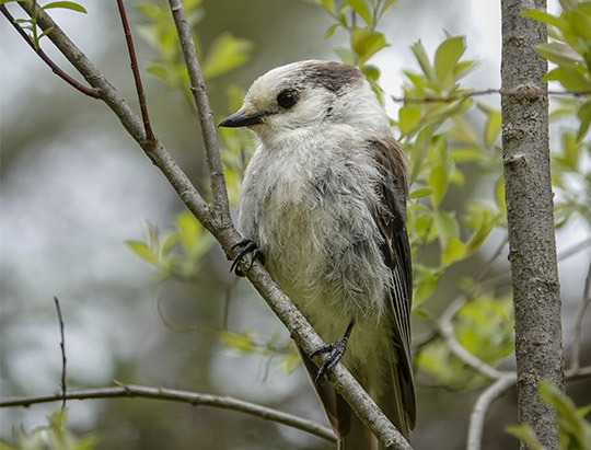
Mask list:
[[[193,35],[190,33],[190,26],[185,14],[183,2],[181,0],[169,0],[169,3],[171,5],[174,24],[176,26],[178,41],[181,43],[181,48],[183,49],[183,56],[190,80],[190,92],[193,93],[195,106],[197,106],[197,111],[199,112],[199,122],[201,125],[207,163],[211,176],[211,193],[213,196],[212,207],[217,210],[216,216],[218,219],[220,219],[222,223],[228,223],[231,221],[230,205],[228,201],[223,164],[218,145],[218,132],[213,122],[213,113],[209,105],[201,67],[199,65],[199,59],[197,58],[197,50],[193,42]]]

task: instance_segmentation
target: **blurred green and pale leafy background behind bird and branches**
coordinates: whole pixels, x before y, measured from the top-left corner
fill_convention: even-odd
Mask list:
[[[89,12],[84,20],[67,13],[61,19],[74,42],[92,50],[90,56],[132,103],[116,8],[80,3]],[[463,447],[472,402],[488,383],[439,337],[442,313],[454,312],[454,336],[470,353],[496,368],[514,367],[499,100],[461,96],[499,85],[499,56],[490,61],[483,44],[487,37],[476,30],[474,18],[484,14],[489,22],[487,13],[471,11],[467,0],[452,3],[184,1],[218,119],[240,107],[256,76],[308,58],[357,65],[389,111],[409,157],[413,183],[408,232],[417,449],[432,448],[441,430],[448,439],[438,440],[439,449]],[[548,80],[584,90],[591,37],[580,23],[591,13],[576,2],[565,5],[556,7],[556,15],[530,16],[553,26],[554,41],[538,49],[555,64]],[[207,196],[196,112],[167,2],[142,0],[134,7],[129,13],[141,37],[136,39],[139,57],[151,76],[146,82],[153,127]],[[486,33],[498,36],[500,23],[488,25]],[[184,210],[119,124],[101,105],[46,74],[33,54],[24,54],[8,24],[1,26],[2,42],[10,39],[2,51],[11,61],[2,69],[3,78],[16,92],[2,94],[2,396],[57,389],[59,337],[51,297],[58,295],[65,310],[69,389],[118,379],[236,395],[326,423],[289,336],[247,282],[228,273],[215,240]],[[473,35],[480,41],[476,54],[470,50]],[[93,36],[102,36],[100,45]],[[490,67],[495,73],[486,70]],[[19,84],[24,76],[15,73],[23,71],[26,82]],[[405,100],[393,102],[392,94]],[[426,96],[455,100],[414,101]],[[25,107],[33,102],[35,111]],[[55,114],[44,113],[47,105]],[[559,255],[569,256],[560,262],[568,346],[591,259],[591,147],[586,140],[591,108],[586,97],[553,99],[552,105],[558,249]],[[220,129],[220,139],[235,206],[255,142],[248,132],[231,128]],[[144,220],[150,223],[140,238]],[[583,324],[581,365],[588,365],[589,315]],[[590,386],[589,381],[575,382],[568,393],[581,406],[591,402]],[[502,432],[517,422],[513,396],[507,394],[491,408],[485,449],[518,447]],[[77,435],[92,432],[67,447],[72,449],[332,448],[232,412],[144,400],[70,402],[68,409]],[[39,405],[1,411],[2,437],[23,424],[13,434],[14,445],[43,448],[42,432],[49,436],[47,441],[60,429],[55,416],[49,427],[43,426],[51,411]],[[513,431],[519,438],[526,435]]]

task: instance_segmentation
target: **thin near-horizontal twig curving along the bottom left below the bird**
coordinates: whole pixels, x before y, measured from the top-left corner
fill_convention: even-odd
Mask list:
[[[281,411],[260,406],[255,403],[245,402],[230,396],[118,383],[116,388],[86,389],[82,391],[69,392],[66,397],[68,400],[142,397],[188,403],[193,406],[211,406],[222,409],[232,409],[240,413],[251,414],[253,416],[264,418],[265,420],[287,425],[288,427],[300,429],[331,442],[336,442],[336,437],[333,431],[327,427],[316,424],[315,422],[306,420]],[[61,394],[14,397],[0,401],[0,407],[31,406],[33,404],[56,402],[59,400],[61,400]]]

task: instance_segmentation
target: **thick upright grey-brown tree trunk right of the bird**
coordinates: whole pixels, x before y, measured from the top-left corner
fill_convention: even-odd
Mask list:
[[[533,48],[546,42],[546,25],[519,15],[526,9],[545,11],[546,0],[501,0],[501,8],[502,88],[547,90],[541,81],[547,64]],[[503,95],[501,105],[519,422],[529,423],[547,449],[557,449],[555,414],[537,392],[541,379],[564,390],[548,100]]]

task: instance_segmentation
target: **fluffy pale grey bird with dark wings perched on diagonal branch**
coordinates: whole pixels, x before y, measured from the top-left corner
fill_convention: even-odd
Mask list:
[[[339,450],[378,439],[323,376],[338,362],[406,437],[415,427],[408,162],[356,67],[304,60],[257,78],[221,127],[258,141],[244,173],[232,269],[251,254],[326,344],[303,364]],[[326,353],[318,370],[313,358]],[[324,382],[323,382],[324,381]]]

